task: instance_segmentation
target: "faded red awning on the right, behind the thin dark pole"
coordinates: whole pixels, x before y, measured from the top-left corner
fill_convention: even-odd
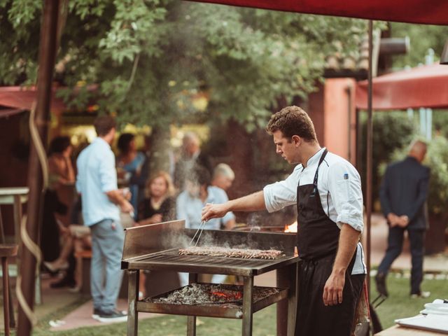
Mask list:
[[[367,109],[367,80],[356,86],[356,108]],[[372,109],[448,107],[448,66],[432,64],[373,78]]]

